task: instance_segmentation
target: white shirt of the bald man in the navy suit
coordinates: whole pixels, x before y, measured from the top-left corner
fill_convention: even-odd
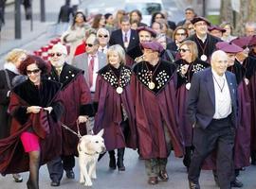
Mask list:
[[[228,117],[232,112],[229,84],[225,74],[223,76],[219,76],[212,69],[211,72],[215,94],[215,113],[213,115],[213,119],[223,119]]]

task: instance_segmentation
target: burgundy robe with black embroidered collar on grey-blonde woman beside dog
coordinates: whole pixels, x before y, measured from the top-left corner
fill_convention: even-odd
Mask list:
[[[132,71],[128,66],[119,69],[110,64],[104,66],[98,74],[95,101],[98,111],[95,116],[94,132],[104,129],[103,138],[106,149],[137,147],[137,131],[134,102],[131,94]],[[121,94],[117,88],[123,89]],[[124,122],[124,119],[128,119]]]

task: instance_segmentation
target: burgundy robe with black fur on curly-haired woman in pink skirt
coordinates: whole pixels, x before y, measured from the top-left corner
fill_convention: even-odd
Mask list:
[[[60,83],[46,79],[42,79],[39,88],[26,80],[13,89],[9,102],[12,116],[10,136],[0,141],[0,173],[28,171],[28,153],[24,151],[20,140],[24,131],[40,137],[41,164],[61,155],[62,131],[59,120],[64,107],[60,91]],[[46,116],[43,117],[41,113],[27,113],[28,106],[52,107],[53,110],[44,112]]]

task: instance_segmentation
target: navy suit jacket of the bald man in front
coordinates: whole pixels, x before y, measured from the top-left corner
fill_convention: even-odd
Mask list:
[[[231,97],[231,121],[236,127],[237,119],[237,84],[235,75],[227,71],[225,73],[229,85]],[[192,85],[187,99],[187,116],[195,127],[206,129],[215,112],[214,83],[211,68],[195,73],[192,77]]]

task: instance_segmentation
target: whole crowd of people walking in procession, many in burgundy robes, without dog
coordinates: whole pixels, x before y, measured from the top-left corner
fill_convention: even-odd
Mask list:
[[[169,180],[174,150],[191,189],[201,168],[221,189],[243,187],[239,171],[256,164],[255,24],[236,38],[229,23],[211,26],[191,8],[177,26],[164,12],[151,26],[139,10],[95,15],[91,25],[73,14],[48,62],[13,49],[0,71],[0,173],[22,181],[29,171],[27,188],[37,189],[46,163],[59,186],[64,171],[75,178],[70,130],[104,129],[110,169],[125,171],[125,147],[137,149],[154,185]]]

